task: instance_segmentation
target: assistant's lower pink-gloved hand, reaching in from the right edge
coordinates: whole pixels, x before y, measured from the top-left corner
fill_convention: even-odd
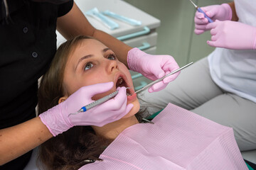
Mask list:
[[[256,28],[235,21],[215,21],[206,26],[212,35],[208,45],[233,50],[255,50]]]

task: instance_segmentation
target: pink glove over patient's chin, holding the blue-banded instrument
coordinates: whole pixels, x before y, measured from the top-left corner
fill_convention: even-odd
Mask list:
[[[41,113],[39,117],[53,136],[65,132],[74,125],[103,126],[107,123],[119,120],[129,113],[133,107],[132,103],[127,106],[127,94],[125,87],[117,89],[119,90],[117,96],[109,101],[106,101],[105,103],[83,113],[69,115],[70,113],[76,113],[80,108],[82,108],[82,106],[92,103],[92,96],[95,96],[95,94],[101,94],[112,89],[113,84],[113,82],[108,82],[83,86],[78,91],[75,91],[74,94],[69,96],[67,100],[53,108],[50,108],[48,111]]]

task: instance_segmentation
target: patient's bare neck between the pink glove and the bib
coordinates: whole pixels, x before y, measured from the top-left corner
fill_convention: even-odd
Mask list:
[[[129,118],[122,118],[102,127],[92,126],[92,128],[95,130],[97,135],[114,140],[123,130],[137,123],[139,123],[139,121],[135,115],[132,115]]]

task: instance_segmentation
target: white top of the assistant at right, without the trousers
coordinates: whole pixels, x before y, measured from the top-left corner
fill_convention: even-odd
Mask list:
[[[235,0],[235,11],[238,22],[256,27],[256,1]],[[216,48],[208,62],[218,86],[256,103],[256,50]]]

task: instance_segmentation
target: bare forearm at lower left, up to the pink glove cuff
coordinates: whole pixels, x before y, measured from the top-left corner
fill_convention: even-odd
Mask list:
[[[39,117],[0,130],[0,165],[6,164],[53,137]]]

